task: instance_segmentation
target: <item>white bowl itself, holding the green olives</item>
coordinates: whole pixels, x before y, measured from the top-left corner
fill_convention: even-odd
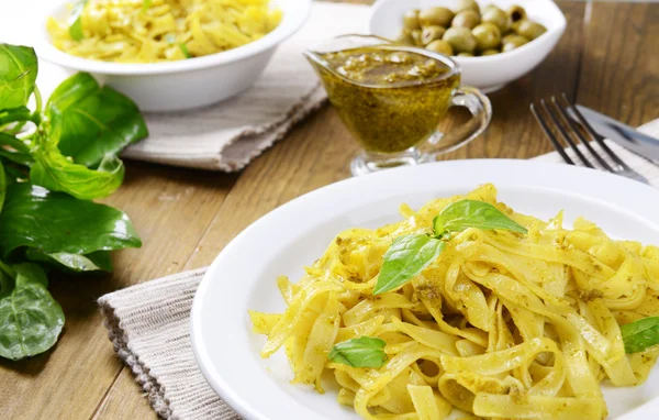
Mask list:
[[[507,9],[520,4],[528,18],[544,24],[547,32],[538,38],[509,53],[485,57],[451,57],[462,68],[462,84],[473,86],[484,92],[501,89],[506,84],[521,78],[554,49],[563,34],[568,22],[560,9],[550,0],[477,0],[481,8],[496,4]],[[369,31],[373,35],[395,40],[403,27],[403,13],[410,9],[424,9],[444,5],[454,9],[457,0],[379,0],[371,8]]]

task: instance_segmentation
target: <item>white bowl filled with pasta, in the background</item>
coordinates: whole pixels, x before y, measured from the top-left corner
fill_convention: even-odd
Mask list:
[[[78,12],[66,4],[45,12],[35,40],[38,56],[92,74],[130,96],[143,111],[203,107],[246,90],[311,9],[311,0],[76,4],[85,3]],[[188,57],[193,58],[183,59]]]

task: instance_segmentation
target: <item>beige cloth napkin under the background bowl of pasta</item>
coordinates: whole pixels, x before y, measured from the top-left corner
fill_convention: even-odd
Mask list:
[[[309,22],[279,46],[253,88],[203,109],[146,114],[149,136],[122,156],[211,170],[242,169],[325,101],[302,52],[336,35],[364,32],[367,15],[366,5],[314,3]]]

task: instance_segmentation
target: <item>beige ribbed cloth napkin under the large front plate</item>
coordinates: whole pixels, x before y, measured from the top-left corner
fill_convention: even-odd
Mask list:
[[[640,130],[659,137],[659,120]],[[659,167],[615,144],[611,148],[659,187]],[[556,152],[535,159],[562,162]],[[190,308],[204,273],[178,274],[99,299],[114,350],[165,419],[239,419],[206,384],[190,345]]]

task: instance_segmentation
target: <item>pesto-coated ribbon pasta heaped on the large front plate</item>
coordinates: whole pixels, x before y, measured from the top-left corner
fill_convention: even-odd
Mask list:
[[[489,202],[527,229],[466,229],[403,286],[373,296],[394,239],[429,233],[433,218],[461,199]],[[263,357],[280,347],[293,383],[324,393],[331,371],[338,402],[365,419],[424,419],[453,408],[479,418],[602,419],[600,383],[643,383],[659,346],[626,354],[622,324],[659,314],[659,248],[614,241],[579,219],[562,228],[514,212],[492,185],[437,199],[403,221],[338,234],[297,284],[278,285],[288,309],[250,311],[267,334]],[[381,339],[379,368],[328,360],[336,343]]]

